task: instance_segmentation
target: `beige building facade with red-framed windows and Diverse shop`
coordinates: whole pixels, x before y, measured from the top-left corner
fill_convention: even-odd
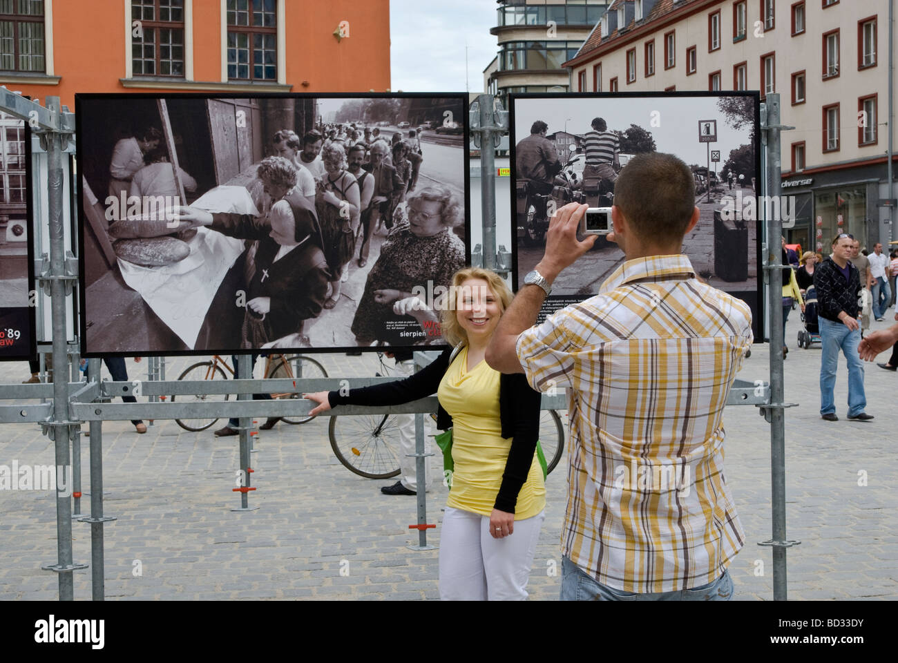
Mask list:
[[[788,239],[828,252],[849,232],[872,247],[898,239],[889,4],[615,0],[565,65],[576,92],[779,93],[781,121],[796,127],[781,136],[783,193],[797,209]]]

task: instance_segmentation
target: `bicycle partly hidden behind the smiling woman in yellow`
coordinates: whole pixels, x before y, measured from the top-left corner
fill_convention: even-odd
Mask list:
[[[381,368],[391,369],[383,363]],[[376,373],[381,376],[381,373]],[[435,421],[436,416],[430,415]],[[330,417],[328,426],[330,448],[349,472],[366,479],[390,479],[401,472],[399,424],[395,414],[357,414],[351,417]],[[564,425],[559,413],[543,410],[540,415],[540,445],[546,457],[548,472],[559,464],[564,452]]]

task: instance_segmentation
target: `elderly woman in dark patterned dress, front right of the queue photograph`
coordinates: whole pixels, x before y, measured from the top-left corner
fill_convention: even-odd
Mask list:
[[[359,345],[427,340],[418,323],[427,317],[436,320],[428,308],[433,302],[415,296],[448,287],[453,273],[464,265],[464,244],[452,230],[462,223],[463,208],[451,190],[442,184],[419,190],[408,201],[408,217],[386,237],[368,273],[352,321]]]

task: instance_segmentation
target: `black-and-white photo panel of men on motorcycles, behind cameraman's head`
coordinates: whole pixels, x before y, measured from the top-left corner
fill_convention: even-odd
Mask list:
[[[629,159],[664,152],[695,178],[700,220],[682,251],[700,278],[751,306],[755,338],[762,338],[758,104],[757,93],[512,95],[515,287],[540,261],[555,209],[570,202],[611,208]],[[555,280],[541,319],[596,295],[623,261],[600,234]]]

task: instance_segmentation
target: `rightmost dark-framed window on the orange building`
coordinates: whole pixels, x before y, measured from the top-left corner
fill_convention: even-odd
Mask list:
[[[277,0],[227,0],[227,77],[277,81]]]

